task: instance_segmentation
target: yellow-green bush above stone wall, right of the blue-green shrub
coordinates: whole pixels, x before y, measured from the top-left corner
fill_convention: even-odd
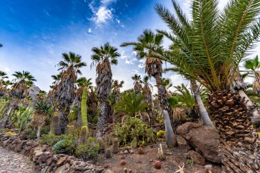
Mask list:
[[[89,137],[86,141],[86,144],[80,144],[79,146],[77,146],[75,154],[77,157],[80,157],[85,161],[96,161],[99,156],[100,150],[101,146],[98,142],[96,142],[96,138]]]

